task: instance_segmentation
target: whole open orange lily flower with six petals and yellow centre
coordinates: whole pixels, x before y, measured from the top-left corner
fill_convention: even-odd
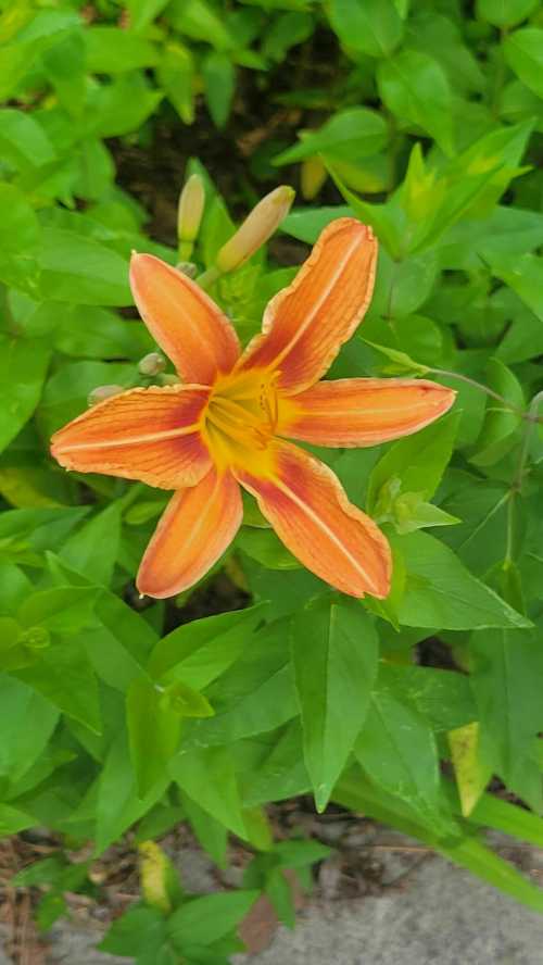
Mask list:
[[[241,525],[241,484],[307,569],[353,597],[387,597],[386,537],[328,466],[287,441],[387,442],[454,401],[422,379],[318,381],[362,321],[376,258],[369,228],[332,222],[241,353],[229,319],[194,281],[153,255],[132,256],[135,301],[182,385],[105,399],[53,436],[52,453],[68,469],[176,490],[143,555],[141,593],[169,597],[210,569]]]

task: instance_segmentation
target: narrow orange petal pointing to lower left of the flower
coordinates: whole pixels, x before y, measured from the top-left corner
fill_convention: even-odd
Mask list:
[[[137,586],[148,597],[172,597],[197,582],[236,536],[243,515],[241,492],[229,474],[211,469],[169,501],[149,543]]]

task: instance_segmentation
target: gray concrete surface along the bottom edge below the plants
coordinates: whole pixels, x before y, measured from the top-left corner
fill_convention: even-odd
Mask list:
[[[541,857],[541,852],[538,855]],[[536,862],[535,862],[536,863]],[[205,887],[201,857],[184,855],[188,886]],[[202,877],[204,876],[204,877]],[[64,923],[52,933],[50,965],[126,965],[93,945],[94,929]],[[543,916],[439,857],[409,874],[403,890],[318,901],[280,927],[266,951],[236,965],[543,965]],[[11,965],[0,951],[0,965]]]

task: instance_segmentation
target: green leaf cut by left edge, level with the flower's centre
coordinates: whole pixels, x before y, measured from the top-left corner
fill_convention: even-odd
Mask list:
[[[0,335],[0,449],[21,431],[41,394],[51,347]]]

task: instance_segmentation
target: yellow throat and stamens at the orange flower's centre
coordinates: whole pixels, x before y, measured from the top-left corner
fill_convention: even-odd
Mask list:
[[[204,433],[219,465],[247,466],[265,459],[278,416],[277,373],[249,372],[225,376],[213,389]]]

